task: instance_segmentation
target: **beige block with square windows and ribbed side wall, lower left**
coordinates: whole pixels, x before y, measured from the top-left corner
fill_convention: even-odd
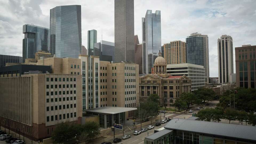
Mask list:
[[[79,83],[81,75],[70,74],[1,77],[0,117],[10,123],[11,131],[42,141],[51,137],[60,122],[81,123]]]

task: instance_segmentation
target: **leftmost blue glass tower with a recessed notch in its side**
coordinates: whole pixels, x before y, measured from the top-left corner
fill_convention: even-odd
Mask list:
[[[49,51],[50,33],[49,29],[35,25],[23,25],[22,61],[26,58],[35,58],[39,50]]]

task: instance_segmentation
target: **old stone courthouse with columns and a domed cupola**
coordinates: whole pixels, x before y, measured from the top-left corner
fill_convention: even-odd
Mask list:
[[[186,75],[172,76],[166,72],[166,61],[159,51],[154,61],[152,74],[139,77],[139,96],[149,97],[150,94],[158,94],[160,102],[171,106],[182,93],[191,93],[191,79]]]

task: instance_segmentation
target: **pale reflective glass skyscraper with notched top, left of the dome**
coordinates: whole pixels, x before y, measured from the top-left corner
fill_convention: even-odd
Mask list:
[[[142,42],[146,44],[146,73],[151,73],[151,68],[157,53],[161,50],[161,11],[147,10],[142,18]]]

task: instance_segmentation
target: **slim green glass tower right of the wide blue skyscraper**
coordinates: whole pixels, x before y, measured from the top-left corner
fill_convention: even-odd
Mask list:
[[[88,55],[97,55],[99,51],[94,51],[94,43],[97,43],[97,30],[88,30],[87,31],[87,49]]]

